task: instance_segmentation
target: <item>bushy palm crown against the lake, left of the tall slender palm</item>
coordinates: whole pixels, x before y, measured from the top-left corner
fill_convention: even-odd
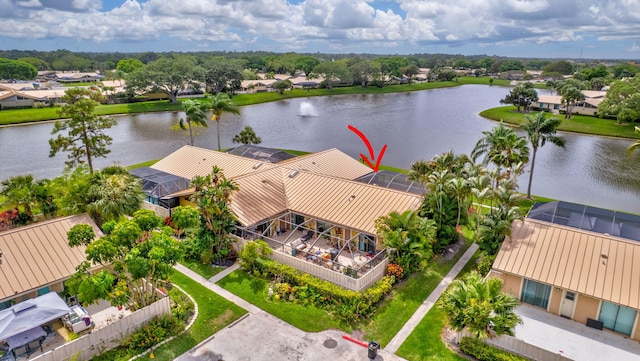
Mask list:
[[[471,158],[475,162],[484,154],[482,164],[495,164],[498,176],[502,167],[511,169],[514,165],[529,160],[527,140],[502,123],[490,131],[482,132],[482,135],[471,152]]]

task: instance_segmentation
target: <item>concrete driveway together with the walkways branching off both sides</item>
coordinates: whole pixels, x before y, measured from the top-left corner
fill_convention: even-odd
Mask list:
[[[404,360],[394,353],[429,312],[442,292],[460,273],[477,249],[476,244],[469,247],[387,347],[378,351],[376,360]],[[227,359],[231,357],[234,360],[260,361],[355,361],[364,360],[368,355],[367,348],[345,340],[342,337],[345,336],[342,331],[327,330],[318,333],[301,331],[215,284],[229,273],[237,270],[239,268],[237,264],[210,279],[200,276],[181,264],[177,264],[175,268],[249,312],[248,315],[241,317],[178,357],[176,359],[178,361],[201,360],[203,357],[211,361],[223,360],[223,357]]]

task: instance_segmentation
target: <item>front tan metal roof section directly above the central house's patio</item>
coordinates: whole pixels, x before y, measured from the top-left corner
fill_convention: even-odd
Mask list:
[[[421,197],[305,171],[279,167],[235,179],[231,207],[244,225],[291,210],[375,234],[374,221],[392,211],[418,209]]]

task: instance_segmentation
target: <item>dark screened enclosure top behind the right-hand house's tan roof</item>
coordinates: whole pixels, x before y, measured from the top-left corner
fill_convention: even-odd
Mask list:
[[[535,203],[527,218],[640,241],[640,216],[568,202]]]

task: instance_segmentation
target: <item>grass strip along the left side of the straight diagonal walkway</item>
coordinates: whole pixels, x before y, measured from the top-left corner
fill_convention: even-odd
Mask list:
[[[382,302],[370,322],[361,330],[366,340],[376,340],[383,347],[391,341],[413,313],[431,294],[456,261],[462,257],[470,242],[460,249],[456,257],[449,261],[433,262],[420,273],[412,274],[407,280],[394,286],[387,299]]]

